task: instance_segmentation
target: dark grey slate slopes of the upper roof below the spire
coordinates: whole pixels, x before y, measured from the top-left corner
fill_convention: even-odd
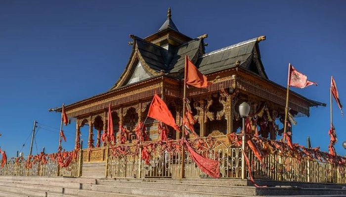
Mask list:
[[[259,70],[249,66],[249,62],[253,60],[254,48],[256,47],[257,38],[249,39],[237,44],[233,44],[216,51],[205,53],[202,38],[190,40],[173,49],[173,58],[168,61],[168,51],[158,45],[150,43],[144,39],[136,37],[138,50],[144,61],[152,69],[160,72],[165,70],[166,73],[179,72],[184,68],[184,58],[188,55],[190,59],[198,56],[195,65],[203,74],[216,72],[235,66],[237,61],[250,71],[259,74]],[[202,51],[200,51],[202,49]],[[264,68],[261,65],[264,72]],[[264,78],[266,74],[264,72]]]

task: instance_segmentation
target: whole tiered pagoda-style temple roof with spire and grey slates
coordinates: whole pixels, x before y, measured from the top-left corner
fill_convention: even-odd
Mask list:
[[[259,52],[259,42],[265,40],[265,36],[255,37],[206,53],[204,39],[207,37],[207,34],[203,34],[192,39],[180,33],[173,23],[171,10],[169,9],[167,19],[158,32],[144,39],[130,35],[133,42],[130,42],[132,51],[129,62],[120,78],[109,91],[67,105],[66,109],[78,103],[82,104],[85,101],[94,100],[96,97],[99,98],[109,93],[118,92],[118,90],[124,90],[129,86],[142,84],[163,74],[179,81],[183,78],[186,55],[203,74],[209,75],[232,68],[241,68],[241,70],[267,81],[273,87],[285,89],[285,87],[270,81],[265,73]],[[306,100],[309,106],[325,105],[324,103],[306,99],[297,93],[294,94]],[[59,111],[61,108],[52,110]]]

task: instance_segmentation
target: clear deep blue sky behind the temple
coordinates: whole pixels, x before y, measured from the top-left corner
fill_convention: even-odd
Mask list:
[[[1,0],[0,146],[7,156],[21,149],[34,120],[40,123],[38,152],[43,146],[55,152],[60,114],[48,108],[109,90],[129,60],[129,34],[155,33],[168,6],[180,32],[208,33],[207,52],[266,35],[259,45],[269,79],[285,86],[292,63],[318,83],[295,91],[327,103],[311,108],[309,118],[296,119],[293,141],[306,145],[310,136],[312,146],[328,150],[331,75],[346,105],[346,1]],[[333,107],[336,150],[345,155],[345,118],[335,102]],[[67,150],[73,149],[75,128],[75,123],[64,128]],[[82,135],[86,139],[87,131]],[[30,137],[25,155],[29,146]]]

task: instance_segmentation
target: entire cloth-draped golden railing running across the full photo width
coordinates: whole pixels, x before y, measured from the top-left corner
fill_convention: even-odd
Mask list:
[[[249,138],[247,138],[249,139]],[[187,140],[201,156],[219,163],[220,177],[241,178],[244,155],[241,135],[228,134]],[[346,184],[346,158],[331,158],[318,149],[297,146],[290,149],[285,143],[263,138],[252,138],[261,152],[246,144],[250,167],[246,177],[273,181]],[[269,147],[269,148],[268,148]],[[144,150],[145,149],[145,150]],[[310,152],[310,153],[309,153]],[[312,154],[311,154],[312,153]],[[54,154],[51,154],[54,155]],[[68,176],[80,177],[83,164],[104,163],[105,177],[115,178],[204,178],[209,177],[195,164],[181,140],[146,141],[116,146],[104,146],[78,151],[67,167],[61,167],[58,158],[46,155],[43,162],[33,157],[10,158],[0,168],[0,175],[8,176]]]

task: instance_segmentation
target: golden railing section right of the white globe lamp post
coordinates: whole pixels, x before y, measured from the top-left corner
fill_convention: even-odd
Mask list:
[[[250,151],[248,154],[255,179],[346,184],[346,166],[270,154],[263,164]]]

